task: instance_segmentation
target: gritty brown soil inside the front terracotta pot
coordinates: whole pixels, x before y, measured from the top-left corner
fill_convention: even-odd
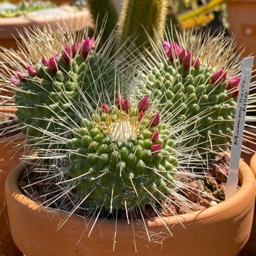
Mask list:
[[[146,205],[142,214],[139,209],[134,209],[129,213],[129,218],[141,218],[141,215],[144,218],[152,218],[158,216],[159,213],[162,216],[185,214],[194,212],[195,210],[203,210],[224,201],[228,165],[228,156],[216,156],[209,168],[203,169],[204,175],[194,177],[192,174],[189,175],[189,173],[191,173],[189,170],[186,174],[179,174],[176,178],[183,182],[185,186],[182,190],[178,191],[178,196],[172,195],[170,197],[171,203],[163,203],[162,205],[155,203],[154,207],[152,207],[152,205]],[[202,172],[202,169],[200,169],[199,172]],[[53,191],[60,191],[60,186],[56,185],[52,180],[49,181],[48,179],[45,180],[47,182],[40,182],[40,179],[42,179],[44,175],[49,175],[49,173],[40,173],[39,177],[38,172],[27,171],[26,174],[22,176],[19,183],[25,195],[43,205],[45,205],[46,201],[53,201],[53,198],[58,197],[59,192],[55,193]],[[65,185],[63,185],[63,187],[65,187]],[[51,193],[49,193],[50,191]],[[63,191],[65,191],[65,189],[63,189]],[[179,199],[179,195],[183,195],[183,199]],[[187,203],[188,201],[191,203]],[[69,196],[61,197],[53,203],[48,203],[48,205],[53,208],[65,210],[66,212],[71,212],[77,202],[79,203],[71,191]],[[154,208],[157,209],[158,214]],[[74,213],[81,216],[92,216],[93,214],[98,214],[98,211],[88,209],[86,205],[82,204],[77,207]],[[113,214],[108,214],[106,210],[100,209],[99,216],[102,218],[115,218],[116,216],[122,219],[127,218],[125,210],[119,210],[118,214],[116,214],[115,211]]]

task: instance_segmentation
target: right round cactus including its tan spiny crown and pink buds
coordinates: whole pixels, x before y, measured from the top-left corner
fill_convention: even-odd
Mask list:
[[[152,100],[158,98],[159,107],[166,110],[166,118],[173,124],[195,120],[186,129],[197,131],[197,136],[187,146],[195,145],[199,152],[226,149],[240,82],[237,57],[227,39],[206,36],[203,44],[195,46],[197,38],[190,36],[179,43],[162,43],[156,63],[148,61],[141,90]],[[224,46],[228,47],[225,54],[221,51]]]

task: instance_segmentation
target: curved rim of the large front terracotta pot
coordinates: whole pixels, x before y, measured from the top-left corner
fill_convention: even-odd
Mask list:
[[[52,214],[53,216],[55,216],[56,213],[58,213],[57,214],[58,216],[66,216],[67,212],[64,212],[61,210],[55,210],[51,207],[43,207],[42,205],[39,205],[35,201],[32,201],[31,199],[26,197],[26,195],[24,195],[20,191],[18,187],[18,181],[26,165],[28,165],[28,163],[21,163],[19,166],[17,166],[13,170],[11,170],[11,172],[9,172],[5,182],[5,195],[7,195],[6,197],[7,198],[11,197],[13,200],[18,201],[18,203],[25,205],[31,210],[36,209],[39,212],[47,212],[47,214]],[[255,177],[253,175],[251,168],[245,162],[243,162],[243,160],[240,160],[239,171],[240,171],[239,177],[242,180],[242,186],[239,189],[239,191],[236,192],[235,195],[233,195],[226,201],[218,203],[217,205],[211,206],[205,210],[199,210],[199,211],[191,212],[188,214],[148,218],[148,219],[145,219],[146,226],[148,227],[165,226],[166,223],[168,223],[168,226],[181,224],[181,223],[189,224],[195,221],[212,222],[216,218],[216,215],[218,215],[218,218],[222,218],[224,220],[226,219],[227,212],[232,213],[234,212],[234,209],[236,214],[239,214],[239,213],[242,214],[243,212],[245,212],[245,209],[247,209],[249,205],[253,203],[255,199],[256,182],[255,182]],[[243,204],[243,207],[241,207],[241,204]],[[71,217],[69,218],[84,219],[84,217],[78,216],[76,214],[72,214]],[[121,226],[127,225],[127,220],[118,220],[118,221],[119,221],[119,225]],[[115,222],[116,220],[104,219],[104,222],[102,222],[102,224],[103,225],[115,224]]]

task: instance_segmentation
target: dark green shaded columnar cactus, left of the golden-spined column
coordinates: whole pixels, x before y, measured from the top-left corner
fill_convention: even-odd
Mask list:
[[[119,17],[113,1],[114,0],[86,1],[90,9],[90,13],[92,14],[92,18],[94,19],[94,23],[97,26],[97,32],[100,33],[100,30],[104,28],[102,31],[102,40],[104,42],[110,34],[113,33]]]

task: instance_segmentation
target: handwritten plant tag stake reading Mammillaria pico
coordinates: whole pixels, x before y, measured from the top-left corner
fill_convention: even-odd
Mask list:
[[[236,117],[234,119],[234,132],[233,132],[233,138],[232,138],[230,164],[228,169],[228,181],[226,183],[225,199],[228,199],[229,197],[234,195],[234,193],[236,193],[239,159],[241,156],[241,147],[242,147],[243,131],[245,126],[245,115],[246,115],[252,68],[253,68],[253,57],[243,59],[241,81],[239,85],[237,104],[236,104]]]

